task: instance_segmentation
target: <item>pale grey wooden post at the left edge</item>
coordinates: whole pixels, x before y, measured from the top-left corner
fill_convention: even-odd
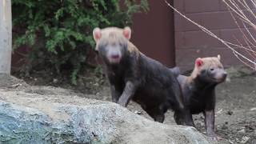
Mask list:
[[[11,0],[0,0],[0,74],[10,74]]]

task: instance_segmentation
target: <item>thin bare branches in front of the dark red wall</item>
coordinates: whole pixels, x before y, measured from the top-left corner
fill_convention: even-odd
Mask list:
[[[248,27],[246,26],[245,22],[247,24],[249,24],[250,26],[252,26],[254,28],[254,30],[256,30],[256,26],[253,22],[250,21],[250,19],[244,12],[245,10],[242,10],[242,8],[246,9],[246,11],[249,11],[250,14],[252,14],[254,16],[254,18],[256,18],[255,14],[254,14],[253,10],[250,10],[250,6],[248,5],[248,3],[246,3],[245,0],[242,0],[242,2],[240,0],[238,0],[238,2],[235,2],[234,0],[222,0],[222,1],[226,3],[226,6],[229,8],[230,14],[233,17],[234,22],[238,26],[238,29],[242,32],[244,41],[246,42],[246,46],[243,46],[241,42],[239,42],[240,45],[234,44],[232,42],[226,42],[224,39],[219,38],[216,34],[212,33],[210,30],[206,29],[206,27],[201,26],[197,22],[194,22],[190,18],[186,17],[186,15],[179,12],[177,9],[174,8],[174,6],[171,6],[170,3],[165,0],[167,6],[169,6],[175,12],[180,14],[183,18],[186,18],[186,20],[193,23],[195,26],[198,26],[198,28],[200,28],[206,34],[209,34],[211,37],[218,39],[219,42],[222,42],[222,44],[224,44],[228,49],[232,50],[234,56],[236,58],[238,58],[239,61],[244,63],[246,66],[249,66],[250,68],[256,70],[256,58],[255,58],[256,51],[254,50],[254,48],[256,46],[256,38],[254,38],[254,35],[251,34],[251,32],[248,29]],[[256,2],[254,2],[254,0],[249,0],[249,1],[252,2],[256,8]],[[239,5],[241,5],[242,8]],[[242,27],[246,30],[246,32],[242,31],[241,26],[238,25],[237,19],[234,17],[233,13],[236,14],[237,17],[242,21]],[[250,36],[250,38],[248,38],[245,33],[248,34]],[[238,52],[238,50],[235,50],[234,47],[232,47],[232,46],[236,46],[242,50],[245,50],[247,52],[247,54],[250,55],[250,58],[248,58],[245,54]]]

